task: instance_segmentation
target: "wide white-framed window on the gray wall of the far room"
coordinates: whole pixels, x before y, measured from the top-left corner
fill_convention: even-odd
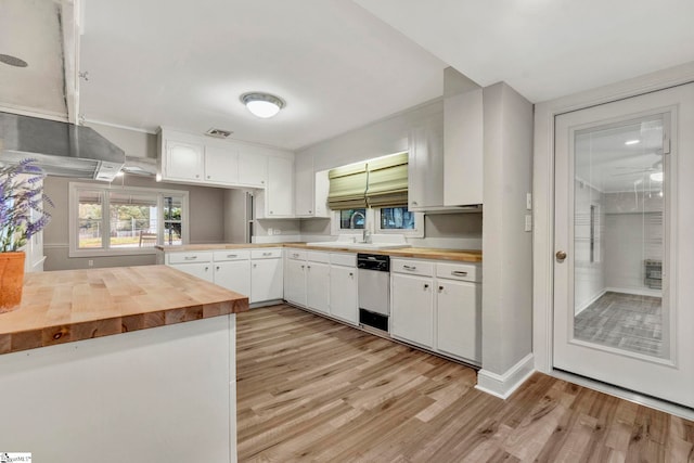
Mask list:
[[[188,243],[188,192],[69,183],[69,255],[151,254]]]

